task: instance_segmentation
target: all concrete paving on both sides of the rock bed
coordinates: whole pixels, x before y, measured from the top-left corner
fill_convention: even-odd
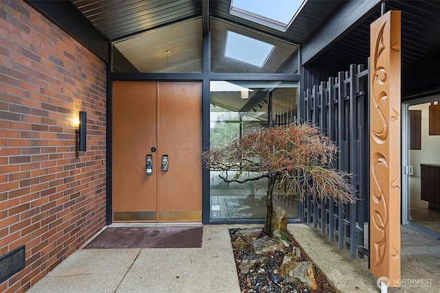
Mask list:
[[[255,225],[234,225],[251,227]],[[204,225],[201,248],[80,249],[29,293],[239,293],[227,225]],[[308,224],[289,231],[338,292],[380,292],[368,258],[351,259]],[[440,241],[401,230],[401,288],[388,292],[440,292]]]

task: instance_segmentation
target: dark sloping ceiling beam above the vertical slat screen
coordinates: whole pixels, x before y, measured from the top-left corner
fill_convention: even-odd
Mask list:
[[[373,12],[380,9],[381,0],[342,1],[327,23],[305,43],[301,49],[302,65],[306,65],[338,42],[356,25],[362,23]]]

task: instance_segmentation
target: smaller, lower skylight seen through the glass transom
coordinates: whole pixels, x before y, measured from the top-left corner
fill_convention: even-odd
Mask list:
[[[256,40],[242,34],[236,34],[228,31],[226,37],[225,56],[245,62],[251,65],[262,67],[274,45]]]

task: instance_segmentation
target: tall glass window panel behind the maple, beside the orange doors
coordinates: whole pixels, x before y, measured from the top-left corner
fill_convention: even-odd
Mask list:
[[[211,81],[210,145],[228,145],[255,128],[296,121],[298,82]],[[233,172],[232,172],[233,173]],[[229,176],[233,175],[229,173]],[[210,171],[211,220],[264,219],[267,179],[248,183],[225,183],[218,170]],[[298,218],[296,194],[287,195],[285,186],[274,189],[274,204]]]

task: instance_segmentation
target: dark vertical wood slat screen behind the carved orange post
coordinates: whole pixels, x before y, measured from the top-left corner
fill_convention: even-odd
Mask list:
[[[314,200],[307,196],[303,218],[328,235],[329,242],[350,249],[350,255],[369,256],[369,69],[351,65],[327,82],[304,92],[303,120],[318,126],[338,145],[334,167],[353,173],[351,183],[358,189],[354,204],[336,204],[333,199]]]

